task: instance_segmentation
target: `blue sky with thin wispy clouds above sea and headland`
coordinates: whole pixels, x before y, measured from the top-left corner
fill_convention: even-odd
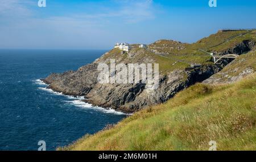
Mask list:
[[[0,0],[2,49],[112,49],[256,28],[255,0]]]

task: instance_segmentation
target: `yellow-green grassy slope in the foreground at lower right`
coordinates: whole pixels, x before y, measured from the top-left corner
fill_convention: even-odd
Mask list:
[[[256,150],[256,75],[240,82],[196,84],[165,104],[59,150]]]

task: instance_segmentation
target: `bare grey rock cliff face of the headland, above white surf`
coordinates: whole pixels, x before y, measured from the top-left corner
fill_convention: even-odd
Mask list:
[[[209,78],[219,70],[216,66],[205,65],[187,73],[182,70],[172,71],[168,75],[160,75],[159,87],[152,90],[147,89],[143,83],[100,84],[97,82],[99,71],[96,65],[92,63],[77,71],[51,74],[44,82],[50,84],[49,88],[54,91],[85,96],[88,103],[123,112],[134,112],[148,105],[163,103],[180,90]]]

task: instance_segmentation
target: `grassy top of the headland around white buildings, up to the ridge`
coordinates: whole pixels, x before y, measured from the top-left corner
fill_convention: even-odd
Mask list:
[[[100,61],[110,62],[115,59],[125,63],[159,63],[160,73],[167,74],[174,70],[184,70],[192,63],[208,64],[211,62],[208,52],[220,52],[236,46],[243,40],[256,42],[256,31],[228,31],[217,32],[205,37],[193,44],[182,43],[172,40],[159,40],[150,45],[148,49],[141,49],[138,45],[132,45],[130,52],[121,54],[121,50],[113,49],[101,57]]]

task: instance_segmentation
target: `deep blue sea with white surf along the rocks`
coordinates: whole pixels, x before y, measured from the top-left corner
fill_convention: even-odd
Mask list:
[[[77,70],[106,50],[0,50],[0,150],[46,150],[117,123],[126,114],[47,89],[39,79]]]

